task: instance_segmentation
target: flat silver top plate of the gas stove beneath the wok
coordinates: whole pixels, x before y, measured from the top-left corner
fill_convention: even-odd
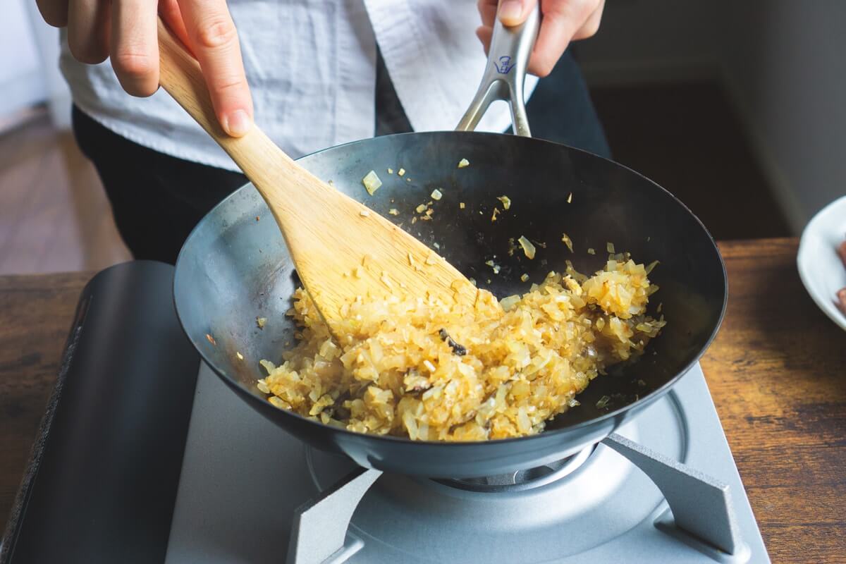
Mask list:
[[[664,532],[667,502],[602,444],[569,474],[532,490],[460,490],[382,475],[354,513],[352,563],[769,562],[699,365],[619,435],[722,480],[745,549],[700,550]],[[294,509],[354,468],[255,413],[201,365],[168,543],[168,563],[274,562]]]

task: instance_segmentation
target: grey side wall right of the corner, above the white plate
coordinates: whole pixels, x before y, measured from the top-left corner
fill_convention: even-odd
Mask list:
[[[732,3],[722,79],[794,231],[846,194],[846,3]]]

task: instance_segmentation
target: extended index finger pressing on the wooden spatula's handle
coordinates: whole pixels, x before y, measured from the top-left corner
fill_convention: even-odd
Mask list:
[[[253,102],[238,33],[225,0],[179,0],[179,9],[206,77],[217,120],[233,137],[246,134],[252,125]]]

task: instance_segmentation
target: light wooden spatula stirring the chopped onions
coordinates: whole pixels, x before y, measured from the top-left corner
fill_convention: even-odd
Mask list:
[[[300,167],[253,126],[244,137],[217,123],[200,64],[159,20],[162,87],[217,141],[276,217],[299,278],[330,329],[356,296],[389,294],[472,304],[475,286],[426,245]],[[296,132],[294,132],[295,134]],[[364,187],[362,187],[364,189]]]

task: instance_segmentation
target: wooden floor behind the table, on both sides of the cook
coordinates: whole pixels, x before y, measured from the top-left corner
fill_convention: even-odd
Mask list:
[[[718,239],[788,235],[718,85],[591,90],[613,157],[688,205]],[[0,275],[129,260],[94,168],[47,115],[0,135]]]

